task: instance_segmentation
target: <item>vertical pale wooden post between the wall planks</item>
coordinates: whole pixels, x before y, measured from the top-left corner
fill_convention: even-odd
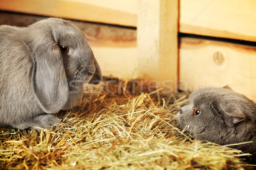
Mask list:
[[[177,89],[178,0],[138,0],[137,47],[140,79]]]

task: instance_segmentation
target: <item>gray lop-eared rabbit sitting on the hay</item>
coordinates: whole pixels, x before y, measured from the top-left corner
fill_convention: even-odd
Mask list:
[[[0,26],[0,127],[57,126],[51,113],[72,108],[83,84],[101,79],[84,34],[70,21]]]

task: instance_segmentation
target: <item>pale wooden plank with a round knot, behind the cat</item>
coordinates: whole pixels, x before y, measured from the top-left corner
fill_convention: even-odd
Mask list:
[[[180,89],[229,85],[256,101],[256,47],[183,37],[179,54]]]

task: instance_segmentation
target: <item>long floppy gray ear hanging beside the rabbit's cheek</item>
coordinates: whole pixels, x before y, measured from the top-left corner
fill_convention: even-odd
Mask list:
[[[41,108],[54,113],[66,104],[69,89],[61,51],[53,37],[44,37],[34,49],[32,88]]]

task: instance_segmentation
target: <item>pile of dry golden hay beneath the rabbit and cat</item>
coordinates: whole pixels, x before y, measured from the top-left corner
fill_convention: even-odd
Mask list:
[[[56,114],[63,123],[51,130],[0,129],[0,167],[250,169],[237,157],[238,150],[201,143],[180,133],[175,113],[188,103],[186,94],[128,94],[125,89],[129,91],[131,84],[122,89],[118,83],[111,84],[116,94],[106,90],[85,94],[78,107]]]

